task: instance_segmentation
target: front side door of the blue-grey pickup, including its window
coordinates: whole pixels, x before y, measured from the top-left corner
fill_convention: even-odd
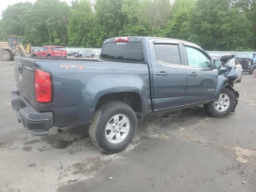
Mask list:
[[[211,58],[198,47],[183,46],[187,62],[187,88],[184,104],[210,101],[214,98],[218,82],[218,70],[212,68]]]

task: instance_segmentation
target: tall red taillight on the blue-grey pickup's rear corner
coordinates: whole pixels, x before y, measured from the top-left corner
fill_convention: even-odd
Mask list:
[[[35,96],[38,103],[52,102],[52,78],[48,72],[35,70]]]

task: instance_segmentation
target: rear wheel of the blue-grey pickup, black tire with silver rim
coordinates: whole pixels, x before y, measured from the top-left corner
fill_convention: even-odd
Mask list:
[[[127,131],[126,134],[122,132],[121,129],[118,130],[120,124],[118,124],[117,127],[116,124],[114,124],[114,117],[116,116],[118,116],[118,120],[116,119],[118,123],[121,122],[122,119],[120,119],[120,117],[122,116],[124,116],[125,120],[128,119],[128,121],[123,124],[126,127],[121,126],[122,130]],[[96,111],[92,124],[89,126],[89,135],[93,144],[101,151],[105,153],[116,153],[124,150],[130,142],[132,142],[137,131],[137,124],[137,116],[130,106],[122,102],[112,101],[103,104]],[[120,139],[116,138],[118,133]],[[112,139],[110,140],[110,138]]]

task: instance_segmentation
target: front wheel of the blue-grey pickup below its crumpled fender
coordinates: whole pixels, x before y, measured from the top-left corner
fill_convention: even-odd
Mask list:
[[[235,95],[232,92],[232,90],[230,90],[229,88],[224,88],[222,90],[222,92],[220,94],[220,98],[221,98],[221,96],[224,96],[224,95],[228,96],[228,99],[229,99],[228,107],[226,107],[227,106],[226,104],[228,103],[228,102],[226,102],[227,100],[224,100],[224,102],[223,102],[219,99],[218,101],[216,101],[214,103],[204,105],[204,109],[205,109],[206,113],[208,113],[209,115],[214,116],[214,117],[226,117],[228,114],[230,114],[232,112],[232,110],[234,109],[236,98],[235,98]],[[223,97],[223,98],[225,99],[225,97]],[[222,104],[222,102],[223,102],[223,105],[220,105],[220,104]],[[222,110],[221,106],[223,106],[223,108],[226,107],[226,109]],[[219,110],[216,109],[218,107],[220,107]]]

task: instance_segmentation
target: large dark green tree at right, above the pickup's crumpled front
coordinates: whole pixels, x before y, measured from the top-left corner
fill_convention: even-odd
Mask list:
[[[206,50],[246,48],[252,34],[250,22],[231,0],[197,0],[192,9],[192,26]],[[210,8],[210,9],[209,9]]]

